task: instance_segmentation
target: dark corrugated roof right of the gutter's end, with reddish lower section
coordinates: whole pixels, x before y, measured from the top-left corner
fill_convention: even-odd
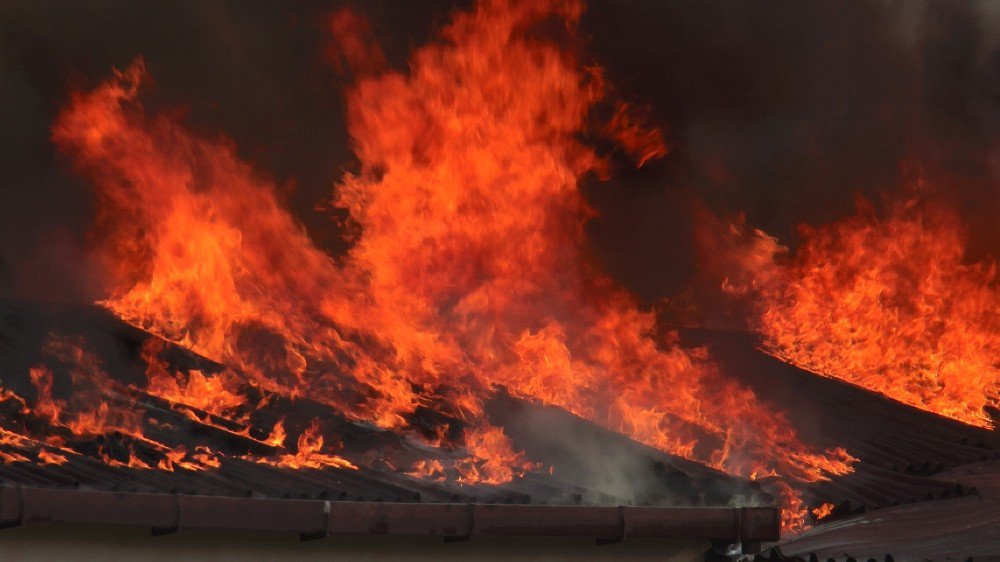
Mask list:
[[[979,560],[1000,556],[1000,436],[760,351],[752,334],[684,330],[727,372],[820,446],[858,457],[852,474],[809,486],[832,513],[759,560]]]

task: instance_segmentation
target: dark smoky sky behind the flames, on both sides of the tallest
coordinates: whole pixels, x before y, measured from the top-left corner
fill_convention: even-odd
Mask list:
[[[351,3],[391,63],[455,2]],[[461,3],[467,4],[467,3]],[[320,245],[315,210],[352,163],[341,91],[323,59],[342,3],[0,2],[0,296],[89,300],[85,182],[49,141],[67,94],[145,57],[151,109],[232,138],[282,184]],[[618,93],[648,105],[673,148],[586,193],[596,255],[647,302],[690,280],[694,209],[743,211],[794,242],[795,225],[852,211],[857,193],[903,191],[918,163],[965,217],[971,253],[1000,255],[1000,5],[917,1],[592,1],[590,54]]]

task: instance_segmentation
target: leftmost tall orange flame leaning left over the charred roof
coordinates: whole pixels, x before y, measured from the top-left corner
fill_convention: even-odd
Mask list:
[[[143,71],[139,61],[75,95],[53,133],[97,179],[97,229],[116,287],[105,305],[267,390],[300,395],[307,367],[322,369],[308,381],[311,396],[401,424],[400,413],[417,403],[413,391],[371,357],[380,350],[348,341],[324,312],[359,313],[351,302],[357,281],[313,247],[279,206],[277,189],[231,145],[143,115],[134,102]],[[370,388],[361,391],[372,395],[368,404],[338,394],[345,377]]]

